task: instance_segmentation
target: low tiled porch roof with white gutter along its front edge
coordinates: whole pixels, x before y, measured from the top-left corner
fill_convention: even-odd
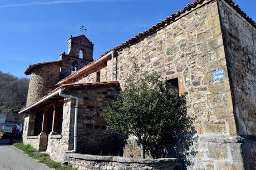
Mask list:
[[[28,112],[31,109],[37,109],[37,108],[42,108],[43,106],[51,104],[53,101],[60,102],[63,97],[59,96],[59,93],[61,89],[63,88],[77,88],[77,87],[85,87],[85,86],[106,86],[107,84],[112,84],[112,85],[118,85],[119,86],[119,81],[106,81],[106,82],[81,82],[81,83],[70,83],[70,84],[62,84],[62,86],[57,87],[53,89],[50,93],[46,94],[46,96],[43,96],[42,98],[38,99],[35,103],[33,103],[31,106],[28,106],[26,108],[23,108],[19,113],[24,113]]]

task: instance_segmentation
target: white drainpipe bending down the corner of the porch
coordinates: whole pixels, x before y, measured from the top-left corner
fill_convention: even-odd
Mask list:
[[[78,97],[71,96],[67,94],[62,94],[62,92],[65,90],[65,88],[61,88],[60,92],[58,93],[61,97],[66,98],[73,98],[76,99],[76,107],[75,107],[75,122],[74,122],[74,148],[72,151],[67,151],[66,153],[76,153],[76,146],[77,146],[77,113],[78,113]]]

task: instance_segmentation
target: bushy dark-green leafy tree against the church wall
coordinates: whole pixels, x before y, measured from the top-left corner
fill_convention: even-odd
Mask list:
[[[134,68],[112,101],[106,119],[110,132],[135,135],[145,158],[146,152],[163,151],[180,134],[192,131],[194,118],[187,114],[186,94],[176,94],[174,86],[158,74],[140,74],[136,65]]]

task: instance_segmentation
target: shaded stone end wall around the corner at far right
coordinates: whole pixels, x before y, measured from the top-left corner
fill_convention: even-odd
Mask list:
[[[224,1],[219,11],[245,169],[256,169],[256,28]]]

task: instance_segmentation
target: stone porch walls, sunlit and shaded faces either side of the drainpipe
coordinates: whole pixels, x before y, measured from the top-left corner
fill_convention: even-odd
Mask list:
[[[79,98],[77,117],[77,152],[108,154],[111,143],[107,140],[106,121],[102,113],[108,111],[115,87],[104,86],[86,89],[66,89],[65,94]],[[51,159],[61,162],[66,151],[73,149],[73,122],[75,100],[65,99],[63,106],[62,134],[49,135],[47,153]],[[107,148],[107,149],[106,149]]]

